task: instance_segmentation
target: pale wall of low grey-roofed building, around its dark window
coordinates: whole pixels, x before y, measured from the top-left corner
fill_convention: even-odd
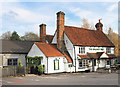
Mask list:
[[[23,66],[26,66],[26,54],[0,54],[0,67],[8,66],[8,59],[20,59]]]

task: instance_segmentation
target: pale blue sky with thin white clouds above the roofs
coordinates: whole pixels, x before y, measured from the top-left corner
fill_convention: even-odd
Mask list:
[[[0,8],[0,35],[17,31],[39,35],[39,25],[46,24],[47,34],[54,35],[56,13],[65,13],[65,25],[80,27],[86,18],[93,26],[102,19],[103,31],[111,27],[118,32],[118,2],[2,2]]]

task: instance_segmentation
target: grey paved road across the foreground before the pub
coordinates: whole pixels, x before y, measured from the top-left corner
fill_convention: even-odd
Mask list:
[[[4,77],[2,85],[118,85],[117,73],[62,73]]]

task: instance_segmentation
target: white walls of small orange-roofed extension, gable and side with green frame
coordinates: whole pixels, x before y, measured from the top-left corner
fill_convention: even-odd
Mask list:
[[[46,57],[45,54],[34,44],[29,51],[27,56],[42,56],[43,60],[41,61],[41,64],[44,65],[44,72],[45,73],[60,73],[60,72],[65,72],[64,69],[64,56],[63,57]],[[59,60],[59,70],[54,70],[54,60],[58,59]],[[65,59],[65,61],[67,61]]]

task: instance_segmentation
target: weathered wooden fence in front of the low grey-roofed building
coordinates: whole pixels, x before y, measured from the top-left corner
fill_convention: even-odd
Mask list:
[[[2,77],[25,75],[26,67],[7,66],[2,68]]]

